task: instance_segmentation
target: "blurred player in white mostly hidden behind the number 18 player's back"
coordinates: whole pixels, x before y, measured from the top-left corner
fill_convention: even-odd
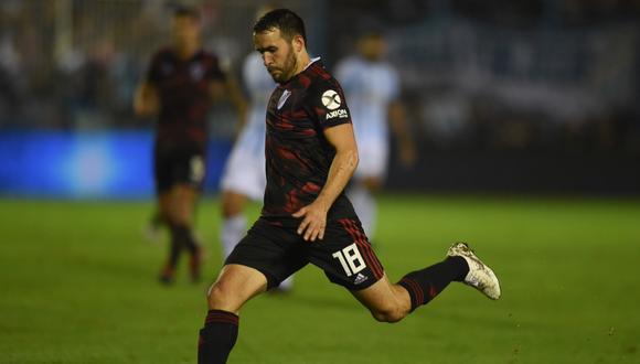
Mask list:
[[[266,6],[257,11],[256,20],[275,9]],[[228,257],[247,231],[244,214],[247,200],[262,201],[267,180],[265,176],[265,111],[269,96],[276,88],[274,78],[263,64],[257,52],[245,58],[243,79],[249,97],[248,122],[243,128],[226,161],[222,176],[222,242],[224,257]],[[292,278],[280,283],[281,290],[289,290]]]

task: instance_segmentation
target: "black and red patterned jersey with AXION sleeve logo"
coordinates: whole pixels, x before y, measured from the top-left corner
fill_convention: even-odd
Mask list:
[[[267,186],[262,215],[281,222],[313,202],[327,182],[335,149],[324,129],[350,124],[342,88],[313,60],[305,71],[277,86],[267,106]],[[354,216],[351,203],[341,193],[328,218]]]

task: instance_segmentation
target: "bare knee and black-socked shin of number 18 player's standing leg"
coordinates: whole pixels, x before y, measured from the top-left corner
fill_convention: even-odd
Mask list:
[[[238,333],[239,309],[267,289],[267,278],[243,265],[226,265],[207,292],[209,312],[200,330],[198,363],[226,363]]]

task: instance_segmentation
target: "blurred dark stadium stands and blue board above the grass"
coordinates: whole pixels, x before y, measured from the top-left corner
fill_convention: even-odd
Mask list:
[[[0,194],[149,197],[152,119],[131,95],[174,1],[0,3]],[[259,1],[201,1],[205,43],[238,73]],[[638,1],[281,1],[329,67],[386,31],[420,161],[388,188],[638,193]],[[215,192],[234,115],[211,115]]]

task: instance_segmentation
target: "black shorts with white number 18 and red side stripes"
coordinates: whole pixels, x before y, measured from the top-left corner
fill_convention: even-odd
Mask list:
[[[356,217],[329,221],[322,240],[306,242],[296,233],[297,224],[259,218],[239,242],[225,264],[259,270],[268,289],[313,264],[330,281],[349,290],[361,290],[380,280],[384,269]]]

